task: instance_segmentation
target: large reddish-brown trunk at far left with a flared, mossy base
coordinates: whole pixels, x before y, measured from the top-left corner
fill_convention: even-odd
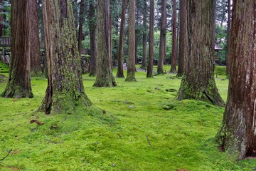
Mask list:
[[[30,4],[11,1],[11,63],[9,81],[1,96],[33,98],[31,90]]]

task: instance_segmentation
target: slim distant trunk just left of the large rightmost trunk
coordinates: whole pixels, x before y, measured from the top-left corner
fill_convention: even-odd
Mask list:
[[[226,59],[226,74],[227,76],[230,75],[230,34],[231,34],[231,5],[230,2],[231,0],[228,0],[228,54],[227,54],[227,59]]]

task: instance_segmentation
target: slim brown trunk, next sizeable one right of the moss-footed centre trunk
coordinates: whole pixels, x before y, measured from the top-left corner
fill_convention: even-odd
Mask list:
[[[154,60],[154,0],[150,0],[149,16],[149,63],[146,71],[146,78],[153,78]]]

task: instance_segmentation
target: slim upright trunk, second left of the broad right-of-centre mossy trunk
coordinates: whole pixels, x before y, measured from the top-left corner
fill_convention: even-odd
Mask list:
[[[177,22],[176,22],[176,0],[173,0],[173,36],[172,36],[172,51],[171,51],[171,73],[176,73],[177,61]]]

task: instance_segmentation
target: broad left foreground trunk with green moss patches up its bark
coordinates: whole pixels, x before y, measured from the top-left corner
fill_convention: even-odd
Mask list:
[[[92,105],[82,83],[72,1],[43,0],[43,24],[48,87],[41,110],[73,113],[77,105]]]

